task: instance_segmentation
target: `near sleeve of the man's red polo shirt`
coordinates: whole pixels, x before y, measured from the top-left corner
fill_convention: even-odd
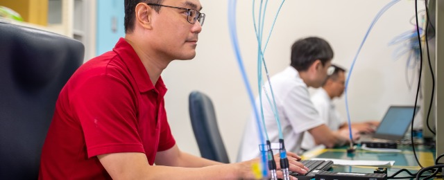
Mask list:
[[[71,97],[83,129],[88,157],[115,152],[144,152],[137,132],[135,94],[112,75],[94,75]]]

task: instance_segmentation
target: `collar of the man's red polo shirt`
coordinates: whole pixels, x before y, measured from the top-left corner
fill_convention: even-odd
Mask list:
[[[165,87],[162,77],[159,77],[159,80],[157,80],[155,86],[153,86],[153,82],[151,82],[150,76],[148,75],[148,72],[146,72],[144,64],[142,64],[142,60],[140,60],[139,56],[134,51],[133,46],[126,42],[123,37],[119,39],[119,42],[117,42],[113,51],[121,57],[121,60],[123,60],[128,67],[128,70],[130,71],[131,75],[133,75],[140,92],[143,93],[150,90],[155,90],[161,96],[165,95],[167,92],[167,87]]]

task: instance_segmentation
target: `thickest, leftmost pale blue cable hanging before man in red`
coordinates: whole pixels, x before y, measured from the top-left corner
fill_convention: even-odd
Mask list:
[[[253,97],[253,91],[251,91],[250,88],[250,82],[248,82],[248,78],[246,76],[244,64],[242,62],[242,57],[239,49],[239,42],[237,39],[237,27],[236,27],[236,0],[230,0],[228,1],[228,26],[230,30],[230,37],[231,42],[233,46],[234,53],[236,54],[237,62],[239,64],[239,69],[242,74],[242,79],[244,80],[244,84],[247,89],[248,98],[250,99],[251,106],[253,107],[253,111],[255,112],[255,119],[257,123],[257,129],[258,129],[258,135],[259,135],[259,141],[262,144],[265,144],[264,136],[262,134],[262,127],[261,123],[259,121],[259,113],[257,112],[256,104],[255,104],[255,98]],[[262,153],[262,159],[261,159],[261,168],[262,168],[262,177],[267,177],[267,167],[266,167],[266,154],[264,152]]]

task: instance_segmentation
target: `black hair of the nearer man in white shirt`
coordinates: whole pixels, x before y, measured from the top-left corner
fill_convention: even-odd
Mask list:
[[[291,66],[298,71],[307,71],[316,60],[323,66],[333,59],[333,49],[327,41],[319,37],[299,39],[291,46]]]

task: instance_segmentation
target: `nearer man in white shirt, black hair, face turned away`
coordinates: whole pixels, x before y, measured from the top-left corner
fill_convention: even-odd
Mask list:
[[[296,41],[291,47],[291,64],[271,78],[278,116],[287,151],[298,153],[304,132],[313,134],[316,143],[327,147],[343,145],[348,141],[332,132],[311,103],[308,87],[321,87],[327,77],[327,69],[333,58],[330,44],[318,37],[307,37]],[[279,141],[278,124],[265,92],[271,97],[270,82],[262,91],[264,123],[271,143]],[[271,100],[273,102],[273,100]],[[256,105],[260,112],[259,98]],[[252,116],[248,121],[239,149],[238,161],[259,156],[259,135]]]

